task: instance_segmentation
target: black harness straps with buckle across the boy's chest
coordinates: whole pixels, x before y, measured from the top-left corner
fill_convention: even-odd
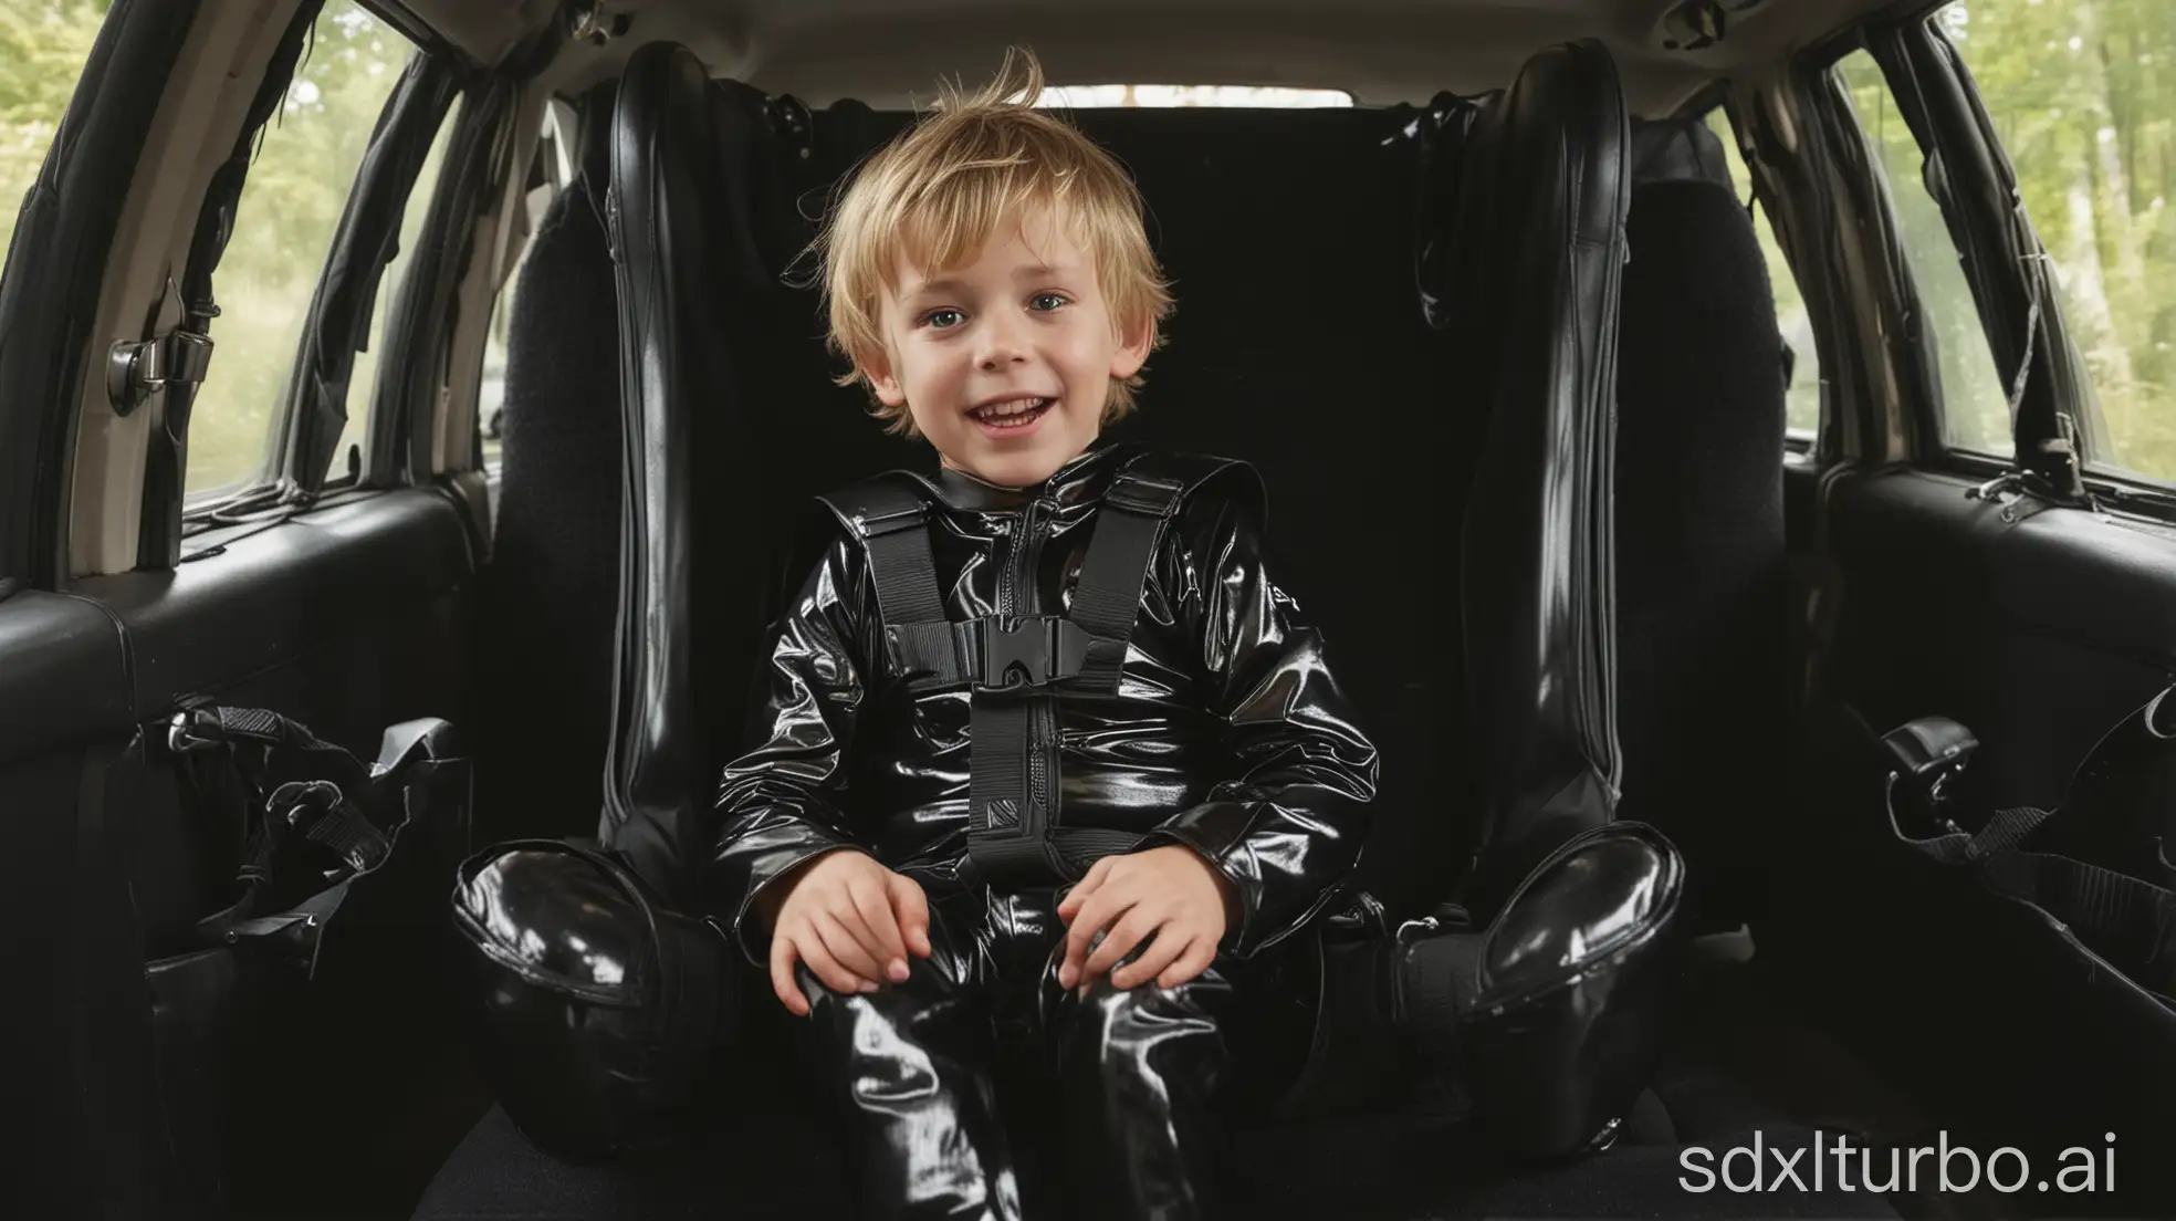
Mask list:
[[[966,686],[968,858],[986,881],[1079,877],[1140,836],[1060,827],[1058,692],[1110,696],[1140,616],[1155,542],[1186,492],[1229,459],[1145,453],[1121,468],[1073,590],[1073,614],[951,622],[929,548],[925,485],[892,472],[823,496],[868,548],[892,670],[910,690]],[[1031,540],[1018,538],[1016,546]]]

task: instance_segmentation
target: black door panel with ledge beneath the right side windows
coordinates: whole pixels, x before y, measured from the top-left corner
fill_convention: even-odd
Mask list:
[[[1876,729],[1967,725],[1982,742],[1967,807],[2054,805],[2093,742],[2176,675],[2176,531],[1976,485],[1926,470],[1837,483],[1828,675]]]

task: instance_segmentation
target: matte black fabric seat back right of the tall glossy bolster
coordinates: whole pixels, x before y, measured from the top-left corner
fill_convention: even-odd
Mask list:
[[[1713,133],[1704,133],[1713,141]],[[1706,176],[1632,189],[1617,418],[1619,733],[1628,818],[1726,916],[1782,818],[1791,720],[1784,383],[1752,220]],[[1743,912],[1739,912],[1743,914]]]

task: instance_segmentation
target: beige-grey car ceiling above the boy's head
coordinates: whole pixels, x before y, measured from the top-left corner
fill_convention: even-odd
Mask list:
[[[1545,46],[1610,46],[1634,113],[1667,113],[1715,76],[1769,63],[1891,0],[366,0],[403,9],[492,63],[564,9],[598,9],[625,33],[574,48],[555,76],[611,76],[640,44],[688,44],[712,72],[812,104],[912,107],[942,78],[975,81],[1007,44],[1053,85],[1286,85],[1347,89],[1360,104],[1425,102],[1510,83]],[[1723,37],[1691,48],[1695,9]],[[1676,44],[1676,46],[1671,46]]]

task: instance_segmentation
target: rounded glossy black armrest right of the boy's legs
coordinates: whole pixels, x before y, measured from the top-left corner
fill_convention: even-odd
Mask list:
[[[1434,1090],[1469,1097],[1478,1136],[1514,1162],[1608,1145],[1660,1060],[1684,884],[1669,838],[1610,823],[1541,862],[1486,927],[1445,908],[1332,932],[1293,1106],[1364,1110]]]

